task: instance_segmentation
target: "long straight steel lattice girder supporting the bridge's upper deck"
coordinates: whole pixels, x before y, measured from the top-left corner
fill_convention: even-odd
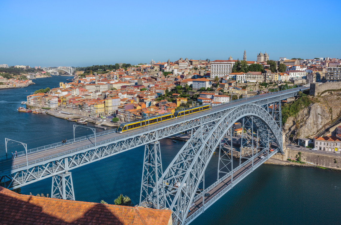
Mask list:
[[[94,147],[94,144],[88,144],[77,148],[72,148],[73,144],[70,144],[69,150],[47,156],[46,154],[50,149],[47,149],[46,147],[43,149],[36,148],[34,151],[28,150],[29,154],[33,154],[29,155],[29,158],[33,158],[32,156],[35,157],[34,159],[29,159],[28,169],[26,162],[12,166],[2,166],[5,165],[7,162],[6,160],[0,162],[0,185],[6,188],[15,189],[190,129],[196,131],[202,129],[199,133],[205,134],[207,130],[210,130],[221,118],[233,109],[242,109],[240,107],[245,106],[246,104],[249,106],[265,106],[273,102],[279,102],[283,99],[296,96],[297,92],[303,89],[308,89],[308,87],[293,88],[277,93],[258,95],[248,99],[238,99],[237,101],[228,104],[213,107],[211,110],[150,126],[149,130],[137,129],[123,134],[109,131],[106,133],[105,137],[107,138],[105,140],[99,140],[99,135],[96,135],[98,140],[96,148]],[[234,112],[236,112],[236,110],[234,110]],[[247,115],[247,113],[243,111],[238,113],[240,116]],[[280,134],[277,133],[273,136],[276,136],[276,138],[279,139]],[[89,137],[90,140],[93,139],[91,138],[93,135]],[[86,140],[87,138],[85,137],[83,139]],[[201,139],[201,141],[203,142],[205,140]],[[76,140],[69,140],[68,143],[77,142]],[[50,146],[61,146],[61,143]],[[42,150],[45,151],[38,152]],[[280,151],[282,151],[282,147],[280,147]],[[25,155],[25,153],[20,154]],[[40,154],[42,155],[41,157]],[[65,159],[68,162],[67,164],[65,164]]]

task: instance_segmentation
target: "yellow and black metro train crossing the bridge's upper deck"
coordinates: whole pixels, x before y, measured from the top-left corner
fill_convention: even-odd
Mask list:
[[[169,119],[176,119],[178,117],[182,117],[182,116],[187,116],[193,113],[198,113],[198,112],[202,112],[205,110],[210,109],[210,105],[205,104],[202,106],[196,106],[196,107],[192,107],[189,109],[184,109],[184,110],[179,110],[179,111],[175,111],[174,114],[172,113],[165,113],[165,114],[160,114],[160,115],[156,115],[156,116],[152,116],[146,119],[140,119],[138,121],[133,121],[133,122],[125,122],[122,123],[118,128],[117,128],[117,133],[124,133],[127,131],[131,131],[134,129],[138,129],[138,128],[143,128],[146,127],[150,124],[156,124],[156,123],[162,123],[164,121],[167,121]]]

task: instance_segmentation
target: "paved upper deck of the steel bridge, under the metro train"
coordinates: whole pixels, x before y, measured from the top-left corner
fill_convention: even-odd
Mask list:
[[[241,104],[253,103],[253,102],[259,101],[259,100],[264,99],[264,98],[271,99],[271,98],[279,96],[279,95],[293,93],[295,91],[297,92],[298,91],[297,89],[298,88],[293,88],[293,89],[288,89],[285,91],[276,92],[276,93],[272,93],[272,94],[257,95],[257,96],[250,97],[250,98],[238,99],[238,100],[233,101],[231,103],[227,103],[227,104],[223,104],[221,106],[213,107],[209,111],[195,113],[195,114],[192,114],[189,116],[181,117],[179,119],[173,119],[173,120],[170,120],[167,122],[162,122],[162,123],[158,123],[155,125],[150,125],[150,127],[146,126],[145,128],[135,129],[135,130],[128,131],[128,132],[125,132],[122,134],[112,132],[112,133],[108,133],[107,135],[104,135],[104,136],[96,136],[97,147],[104,145],[104,144],[101,145],[101,143],[100,143],[101,141],[104,142],[105,144],[108,144],[107,142],[105,142],[106,140],[126,139],[126,138],[129,138],[130,135],[136,134],[136,131],[138,131],[139,134],[143,135],[144,133],[149,133],[149,129],[153,130],[153,129],[159,128],[159,127],[160,127],[160,129],[162,129],[162,127],[163,128],[169,127],[174,123],[180,123],[180,122],[188,120],[189,118],[192,118],[192,119],[199,118],[201,116],[207,115],[209,113],[213,113],[215,111],[221,111],[221,110],[226,110],[229,108],[234,108],[234,107],[237,107]],[[307,87],[301,87],[299,89],[307,89]],[[115,143],[115,141],[114,141],[114,143]],[[48,157],[48,156],[51,156],[54,154],[62,153],[62,152],[72,150],[72,149],[77,149],[79,147],[84,147],[84,146],[91,145],[91,144],[94,147],[94,138],[86,139],[83,141],[75,141],[75,142],[72,142],[70,144],[66,144],[65,146],[53,147],[53,148],[46,149],[43,151],[36,151],[34,153],[28,154],[28,161],[29,162],[34,161],[36,159]],[[9,156],[9,157],[11,157],[11,156]],[[5,172],[5,170],[8,170],[11,166],[21,165],[21,164],[26,164],[26,155],[16,157],[15,159],[2,160],[2,161],[0,161],[0,173]]]

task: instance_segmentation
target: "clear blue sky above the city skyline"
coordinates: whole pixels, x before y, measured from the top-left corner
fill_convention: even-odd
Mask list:
[[[0,64],[340,58],[341,1],[2,1]]]

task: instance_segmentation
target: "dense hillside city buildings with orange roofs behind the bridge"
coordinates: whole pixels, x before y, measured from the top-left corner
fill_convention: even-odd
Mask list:
[[[246,51],[243,59],[247,59]],[[261,65],[262,72],[233,72],[233,66],[238,60],[232,56],[227,60],[213,61],[188,58],[176,61],[168,59],[167,62],[151,60],[150,64],[105,71],[102,74],[94,71],[83,75],[84,71],[75,71],[75,81],[60,83],[58,88],[48,93],[29,95],[27,104],[50,109],[61,107],[87,116],[114,115],[120,121],[131,121],[145,116],[174,113],[180,106],[188,107],[188,102],[192,105],[215,106],[231,101],[233,95],[242,98],[264,92],[247,88],[251,84],[274,82],[294,85],[320,82],[323,79],[341,80],[339,59],[280,58],[276,64],[283,63],[284,72],[272,72],[267,60],[269,54],[260,52],[256,61],[246,61],[248,66]],[[167,94],[171,90],[173,92]],[[196,93],[198,97],[193,98]],[[166,97],[159,98],[165,94]]]

